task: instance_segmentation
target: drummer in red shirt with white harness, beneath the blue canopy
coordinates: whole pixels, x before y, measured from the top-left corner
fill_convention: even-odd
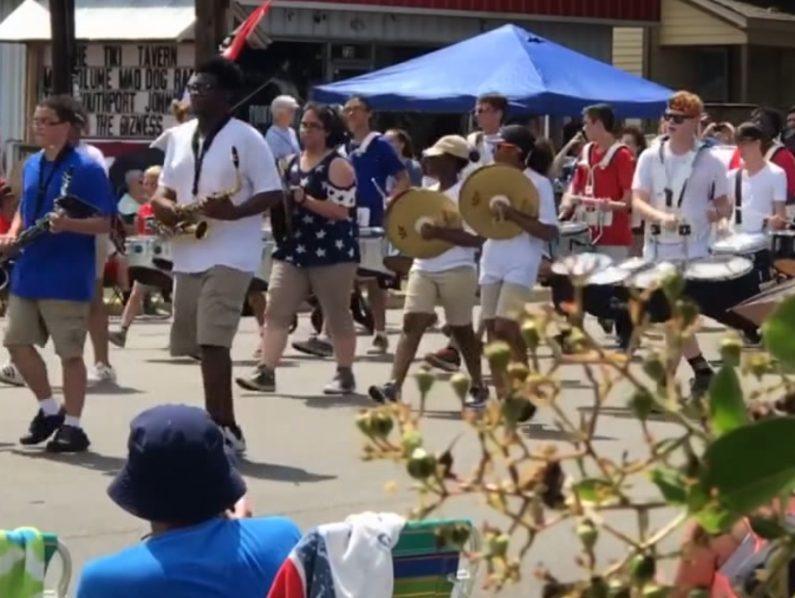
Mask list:
[[[635,159],[632,152],[615,136],[616,118],[607,104],[595,104],[583,110],[585,136],[588,143],[580,152],[574,178],[561,202],[561,220],[575,214],[575,206],[583,206],[591,227],[591,240],[596,252],[610,256],[615,263],[629,257],[632,246],[632,176]],[[589,201],[590,200],[590,201]],[[600,318],[605,332],[611,332],[613,321]],[[623,319],[617,320],[620,324]],[[628,346],[631,330],[618,327],[619,344]]]

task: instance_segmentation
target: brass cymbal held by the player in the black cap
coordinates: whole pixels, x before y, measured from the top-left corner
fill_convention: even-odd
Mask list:
[[[504,164],[483,166],[464,181],[458,209],[464,221],[487,239],[511,239],[522,232],[513,222],[498,219],[492,206],[502,202],[538,217],[538,189],[521,170]]]

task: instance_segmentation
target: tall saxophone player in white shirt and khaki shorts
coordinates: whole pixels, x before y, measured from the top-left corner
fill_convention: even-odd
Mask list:
[[[262,214],[282,201],[276,161],[262,135],[231,116],[232,96],[242,74],[232,61],[216,57],[199,67],[188,84],[196,119],[171,129],[152,200],[155,217],[177,222],[176,206],[203,204],[210,233],[200,241],[175,237],[172,355],[200,355],[205,407],[226,442],[245,450],[232,402],[230,347],[241,306],[262,258]],[[239,168],[233,164],[233,150]],[[233,188],[232,197],[213,195]]]

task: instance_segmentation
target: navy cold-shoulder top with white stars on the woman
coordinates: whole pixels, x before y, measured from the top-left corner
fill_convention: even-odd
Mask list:
[[[323,158],[312,170],[301,170],[298,159],[287,170],[290,186],[299,185],[307,195],[328,200],[338,191],[329,186],[328,170],[333,160],[344,160],[336,152]],[[292,235],[277,241],[273,259],[285,261],[299,268],[331,266],[346,262],[359,262],[359,230],[356,226],[356,208],[346,220],[329,220],[306,208],[294,205]]]

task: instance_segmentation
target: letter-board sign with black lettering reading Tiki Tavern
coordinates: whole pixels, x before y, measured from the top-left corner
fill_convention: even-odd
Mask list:
[[[77,51],[77,87],[90,135],[154,139],[177,124],[171,101],[193,74],[192,44],[86,44]],[[49,59],[50,52],[45,52]],[[45,60],[40,87],[52,89]]]

